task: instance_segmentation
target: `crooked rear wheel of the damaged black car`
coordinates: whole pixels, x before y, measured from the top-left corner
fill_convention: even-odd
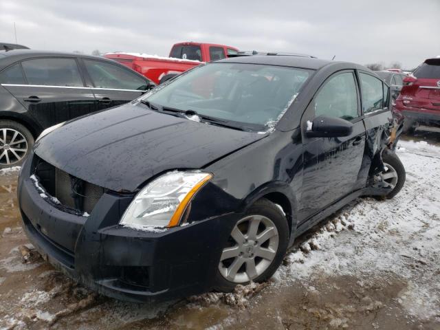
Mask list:
[[[386,194],[387,199],[391,199],[404,186],[406,171],[404,164],[401,164],[399,157],[393,151],[386,149],[382,154],[385,170],[376,175],[376,183],[380,188],[389,188]]]

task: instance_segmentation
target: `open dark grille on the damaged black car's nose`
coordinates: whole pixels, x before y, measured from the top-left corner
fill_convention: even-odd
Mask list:
[[[38,156],[35,156],[34,168],[46,192],[70,210],[90,213],[104,194],[104,188],[74,177]]]

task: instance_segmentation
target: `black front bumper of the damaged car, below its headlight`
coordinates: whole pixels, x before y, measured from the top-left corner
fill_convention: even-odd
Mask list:
[[[100,294],[134,302],[212,289],[221,247],[239,214],[164,232],[133,230],[118,224],[133,197],[107,192],[89,217],[80,217],[41,197],[30,179],[31,158],[19,177],[23,228],[56,268]]]

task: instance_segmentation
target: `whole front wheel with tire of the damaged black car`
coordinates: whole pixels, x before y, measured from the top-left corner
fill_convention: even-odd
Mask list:
[[[260,221],[257,227],[258,231],[256,235],[253,235],[248,230],[251,228],[251,223],[257,223],[258,221]],[[248,243],[243,241],[239,244],[238,240],[232,237],[233,235],[237,236],[236,232],[234,234],[234,230],[236,229],[240,230],[241,234],[243,234],[243,238]],[[274,233],[276,233],[276,235],[274,235]],[[271,234],[273,236],[270,236]],[[258,239],[263,239],[264,241],[258,242]],[[239,284],[246,285],[250,283],[250,281],[266,281],[276,272],[279,265],[281,265],[287,251],[288,243],[289,225],[287,224],[285,215],[278,206],[268,199],[259,199],[249,208],[245,216],[236,222],[228,238],[228,242],[223,246],[214,289],[218,292],[231,292],[234,287]],[[238,256],[235,256],[237,254],[236,248],[240,251]],[[229,256],[229,254],[225,254],[225,252],[229,253],[232,250],[234,250],[234,256],[223,259],[224,256]],[[268,251],[269,253],[267,253]],[[262,255],[265,257],[261,257]],[[272,256],[273,259],[271,261],[270,258],[272,258]],[[227,278],[227,276],[232,276],[231,274],[233,272],[228,272],[228,270],[232,270],[234,263],[237,265],[242,264],[238,266],[239,269],[238,272],[236,272],[234,280],[231,280],[231,278]],[[248,263],[250,263],[249,265],[254,263],[255,266],[253,268],[255,272],[251,271],[252,267],[248,269]]]

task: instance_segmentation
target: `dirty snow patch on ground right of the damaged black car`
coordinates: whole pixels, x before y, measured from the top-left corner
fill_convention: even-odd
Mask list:
[[[408,280],[399,303],[409,314],[440,317],[440,148],[406,141],[399,146],[406,168],[401,192],[391,200],[363,198],[346,206],[287,255],[276,281],[392,273]]]

